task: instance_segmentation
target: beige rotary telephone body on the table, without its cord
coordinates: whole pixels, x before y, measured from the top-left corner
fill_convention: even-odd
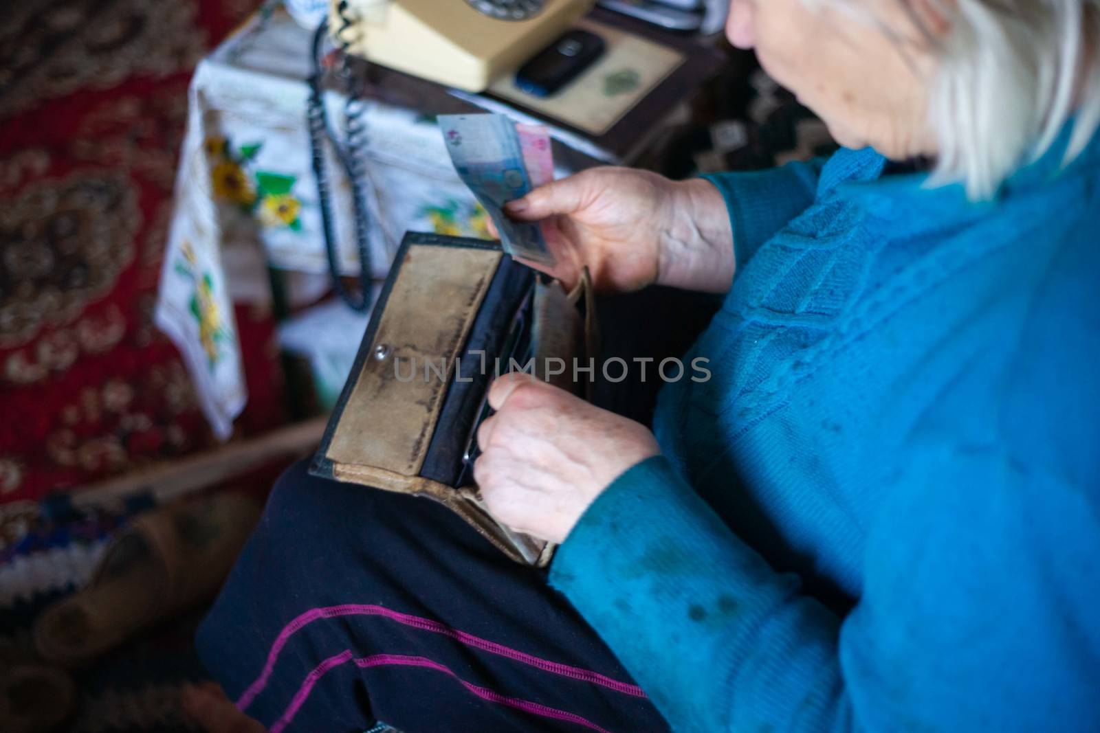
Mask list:
[[[593,0],[332,0],[345,51],[406,74],[484,91],[549,45]]]

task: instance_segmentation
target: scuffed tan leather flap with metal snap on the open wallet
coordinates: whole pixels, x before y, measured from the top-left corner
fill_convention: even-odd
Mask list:
[[[454,358],[501,257],[499,251],[488,248],[424,244],[405,249],[326,451],[337,464],[334,477],[340,464],[417,476]],[[425,365],[443,371],[442,377],[431,373],[431,378],[419,378]],[[398,369],[421,374],[403,381]]]

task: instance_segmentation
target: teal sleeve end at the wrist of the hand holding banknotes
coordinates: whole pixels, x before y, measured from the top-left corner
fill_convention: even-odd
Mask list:
[[[722,192],[734,229],[737,266],[747,263],[760,245],[811,203],[825,158],[788,163],[768,170],[702,176]]]

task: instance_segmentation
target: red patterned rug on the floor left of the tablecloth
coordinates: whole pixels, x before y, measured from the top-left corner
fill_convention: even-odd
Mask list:
[[[0,503],[215,445],[152,322],[196,63],[257,0],[20,0],[0,12]],[[270,313],[250,402],[285,421]]]

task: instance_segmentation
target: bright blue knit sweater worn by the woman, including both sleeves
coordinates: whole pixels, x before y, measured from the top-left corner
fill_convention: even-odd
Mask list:
[[[1100,726],[1100,135],[711,178],[737,276],[551,582],[675,731]]]

